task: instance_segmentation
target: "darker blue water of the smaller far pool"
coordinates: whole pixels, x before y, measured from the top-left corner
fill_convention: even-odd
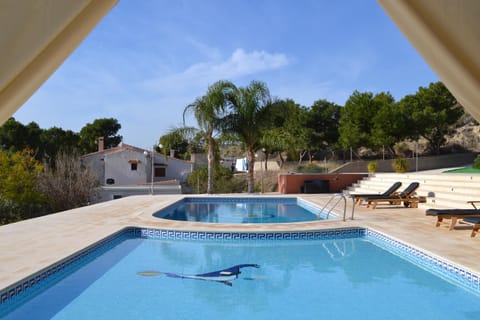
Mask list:
[[[210,223],[285,223],[326,219],[320,212],[297,198],[185,198],[154,216]]]

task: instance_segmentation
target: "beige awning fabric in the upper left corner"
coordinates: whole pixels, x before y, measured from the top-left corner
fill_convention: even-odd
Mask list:
[[[118,0],[0,1],[0,125]]]

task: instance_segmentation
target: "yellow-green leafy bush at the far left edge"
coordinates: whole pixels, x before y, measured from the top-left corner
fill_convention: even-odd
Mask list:
[[[0,223],[26,219],[42,212],[44,197],[36,190],[42,171],[31,149],[0,151]]]

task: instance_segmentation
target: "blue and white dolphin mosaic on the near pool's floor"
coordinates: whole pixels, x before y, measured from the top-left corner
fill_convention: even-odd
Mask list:
[[[142,272],[138,272],[137,274],[145,277],[158,276],[158,275],[164,274],[170,278],[215,281],[215,282],[223,283],[227,286],[232,286],[231,281],[238,278],[238,275],[242,273],[241,272],[242,268],[247,268],[247,267],[260,268],[258,264],[237,264],[227,269],[222,269],[222,270],[208,272],[208,273],[201,273],[201,274],[179,274],[179,273],[159,272],[159,271],[142,271]]]

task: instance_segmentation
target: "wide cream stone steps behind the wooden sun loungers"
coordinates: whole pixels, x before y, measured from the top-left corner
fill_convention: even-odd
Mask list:
[[[472,208],[469,200],[480,200],[480,175],[455,173],[377,173],[360,180],[344,193],[383,193],[394,182],[402,182],[399,191],[411,182],[419,182],[418,196],[424,196],[424,208]]]

